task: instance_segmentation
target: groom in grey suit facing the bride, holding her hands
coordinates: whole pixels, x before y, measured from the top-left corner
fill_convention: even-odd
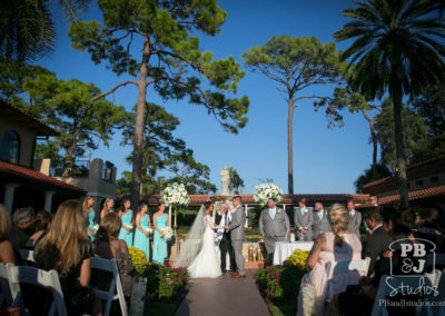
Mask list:
[[[235,207],[235,213],[231,218],[231,223],[224,228],[230,231],[231,246],[235,250],[235,261],[237,264],[238,271],[233,273],[231,277],[241,278],[246,277],[246,270],[244,269],[243,260],[243,241],[244,241],[244,226],[246,224],[246,214],[241,206],[241,197],[235,196],[231,199],[231,204]]]

